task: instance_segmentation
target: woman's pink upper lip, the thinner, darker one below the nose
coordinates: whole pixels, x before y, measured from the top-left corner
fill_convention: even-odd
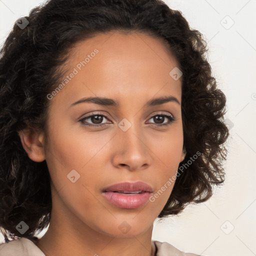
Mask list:
[[[121,182],[110,185],[103,189],[103,192],[107,191],[137,191],[142,190],[145,192],[152,192],[152,187],[142,181],[136,182]]]

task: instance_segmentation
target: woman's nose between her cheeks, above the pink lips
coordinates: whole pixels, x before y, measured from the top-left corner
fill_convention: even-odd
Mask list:
[[[112,164],[130,171],[147,168],[152,161],[142,128],[132,124],[126,131],[118,128],[113,141]]]

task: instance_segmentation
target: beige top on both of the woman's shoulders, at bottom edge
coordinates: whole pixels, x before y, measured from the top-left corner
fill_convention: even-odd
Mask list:
[[[152,240],[155,256],[199,256],[185,253],[167,242]],[[0,244],[0,256],[45,256],[45,254],[29,239],[20,238]]]

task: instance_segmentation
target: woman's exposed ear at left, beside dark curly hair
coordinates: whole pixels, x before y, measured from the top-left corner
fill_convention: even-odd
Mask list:
[[[43,132],[26,129],[18,131],[18,135],[24,150],[31,160],[35,162],[41,162],[45,159],[43,148]]]

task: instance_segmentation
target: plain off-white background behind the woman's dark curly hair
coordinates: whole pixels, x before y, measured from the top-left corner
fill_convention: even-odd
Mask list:
[[[0,0],[0,43],[17,18],[42,2]],[[165,2],[181,10],[208,42],[213,74],[227,97],[231,138],[224,186],[179,216],[156,219],[152,239],[202,255],[256,255],[256,0]]]

